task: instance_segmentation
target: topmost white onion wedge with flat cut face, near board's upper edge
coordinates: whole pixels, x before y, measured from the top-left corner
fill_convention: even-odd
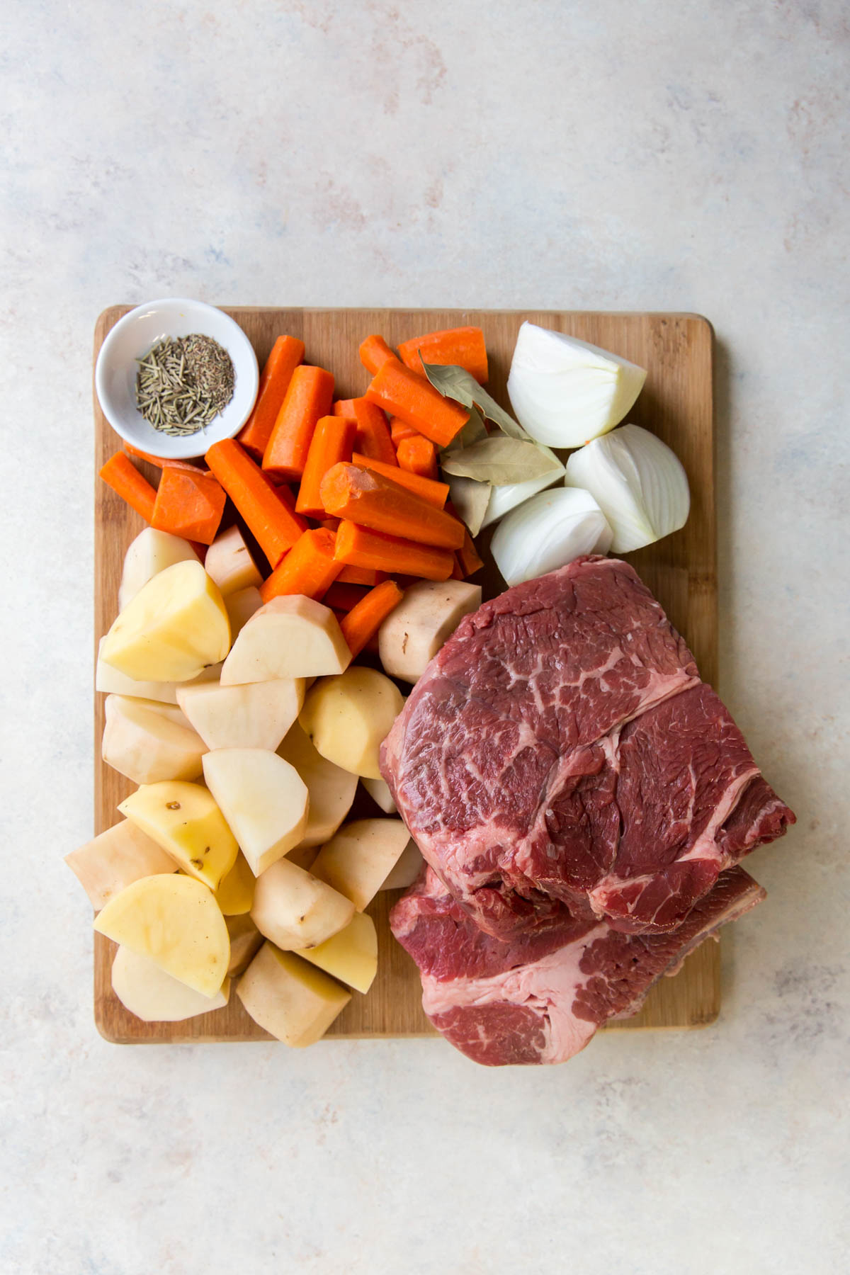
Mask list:
[[[533,439],[551,448],[580,448],[619,425],[645,380],[645,368],[618,354],[524,323],[507,393]]]

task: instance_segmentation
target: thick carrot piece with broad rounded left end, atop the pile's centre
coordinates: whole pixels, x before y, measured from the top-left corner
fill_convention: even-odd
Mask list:
[[[320,493],[329,514],[373,532],[401,536],[438,550],[459,550],[464,543],[464,524],[459,519],[373,469],[334,465],[322,478]]]

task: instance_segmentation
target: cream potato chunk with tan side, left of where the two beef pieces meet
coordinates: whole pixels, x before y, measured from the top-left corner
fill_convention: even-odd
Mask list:
[[[409,840],[410,834],[400,819],[356,819],[322,845],[311,872],[362,912]]]

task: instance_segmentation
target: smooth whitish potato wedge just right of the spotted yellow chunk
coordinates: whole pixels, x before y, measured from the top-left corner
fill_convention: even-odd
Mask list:
[[[307,788],[277,752],[218,748],[205,754],[204,779],[255,876],[303,836]]]

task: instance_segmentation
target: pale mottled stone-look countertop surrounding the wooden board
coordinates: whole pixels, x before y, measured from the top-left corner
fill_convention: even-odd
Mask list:
[[[841,0],[8,0],[0,1269],[827,1275],[847,1243]],[[719,1021],[551,1070],[92,1021],[90,348],[116,301],[691,310],[721,685],[799,822]],[[749,866],[749,864],[748,864]]]

